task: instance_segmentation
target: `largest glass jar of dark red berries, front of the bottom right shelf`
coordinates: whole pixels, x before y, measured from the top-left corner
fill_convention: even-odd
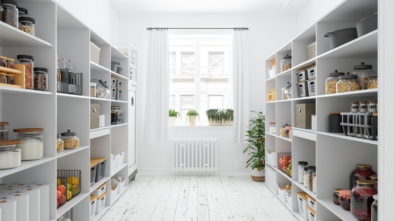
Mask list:
[[[374,184],[371,180],[357,180],[357,186],[351,190],[351,213],[358,220],[370,221],[373,195],[377,194]]]

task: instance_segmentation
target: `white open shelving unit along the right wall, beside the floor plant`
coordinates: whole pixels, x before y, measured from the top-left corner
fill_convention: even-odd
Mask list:
[[[349,112],[351,101],[377,100],[378,90],[360,90],[349,93],[325,94],[325,80],[334,70],[352,72],[353,66],[361,62],[378,65],[378,30],[343,44],[337,48],[329,48],[329,39],[325,33],[342,28],[355,27],[362,18],[373,15],[378,10],[377,1],[344,0],[335,9],[313,24],[300,35],[293,38],[278,51],[265,60],[266,94],[276,89],[275,101],[266,97],[266,131],[268,122],[276,122],[276,133],[266,133],[266,149],[275,150],[276,161],[270,165],[266,160],[266,185],[273,193],[273,183],[292,183],[292,208],[286,206],[301,221],[305,219],[299,214],[296,192],[305,192],[317,199],[317,220],[357,220],[350,211],[343,210],[332,202],[335,188],[349,188],[349,175],[355,164],[373,165],[378,171],[378,142],[345,136],[342,133],[326,132],[326,115],[329,112]],[[316,42],[317,56],[307,57],[307,45]],[[293,68],[281,72],[281,60],[286,54],[292,55]],[[269,77],[267,67],[276,59],[275,77]],[[296,73],[309,67],[317,66],[317,95],[298,97]],[[380,75],[380,73],[379,73]],[[292,81],[292,99],[282,99],[282,87]],[[317,131],[293,127],[292,140],[280,136],[280,128],[288,123],[295,124],[295,104],[315,103],[317,115]],[[278,153],[292,153],[292,178],[277,168]],[[317,167],[317,195],[298,183],[298,161],[307,161]],[[274,173],[273,173],[274,171]],[[274,176],[273,176],[274,174]],[[277,194],[276,194],[277,195]],[[279,197],[279,195],[277,195]],[[282,201],[281,197],[279,199]],[[282,201],[284,203],[284,201]],[[287,204],[287,203],[285,203]]]

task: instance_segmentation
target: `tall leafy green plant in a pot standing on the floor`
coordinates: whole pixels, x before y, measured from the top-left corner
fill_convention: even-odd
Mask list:
[[[251,178],[254,181],[265,181],[265,116],[262,112],[254,112],[257,116],[250,120],[245,141],[248,146],[243,153],[250,150],[250,159],[247,160],[246,168],[251,168]]]

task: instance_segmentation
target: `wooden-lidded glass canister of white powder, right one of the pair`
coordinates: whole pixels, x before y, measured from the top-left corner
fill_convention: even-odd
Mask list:
[[[21,128],[14,129],[18,135],[14,136],[14,140],[22,141],[17,147],[21,149],[22,160],[41,159],[44,156],[44,137],[39,132],[43,132],[43,128]]]

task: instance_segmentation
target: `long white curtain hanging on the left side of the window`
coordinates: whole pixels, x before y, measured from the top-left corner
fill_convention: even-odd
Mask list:
[[[168,142],[169,35],[167,30],[147,32],[144,142]]]

